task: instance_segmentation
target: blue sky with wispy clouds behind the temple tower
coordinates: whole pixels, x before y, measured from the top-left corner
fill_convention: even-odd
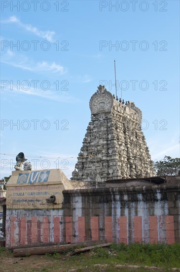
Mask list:
[[[90,97],[102,81],[114,93],[114,59],[118,96],[142,110],[151,158],[180,157],[179,5],[1,1],[0,178],[19,152],[33,169],[71,177]]]

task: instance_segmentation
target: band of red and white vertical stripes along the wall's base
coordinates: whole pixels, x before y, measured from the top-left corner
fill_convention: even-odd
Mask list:
[[[65,220],[65,222],[63,222]],[[83,242],[86,240],[99,240],[100,236],[100,218],[92,216],[90,218],[91,237],[86,236],[85,217],[77,218],[77,237],[74,237],[74,222],[72,216],[22,216],[9,218],[7,228],[6,246],[14,247],[17,245],[30,245],[39,243],[73,243]],[[114,229],[113,218],[104,217],[104,238],[108,242],[130,243],[130,242],[149,242],[158,243],[166,242],[173,244],[175,242],[174,216],[149,216],[149,229],[144,239],[143,219],[142,216],[134,216],[133,226],[128,227],[128,217],[122,216],[117,218],[117,229]],[[161,232],[165,236],[160,235]],[[115,234],[114,234],[115,233]]]

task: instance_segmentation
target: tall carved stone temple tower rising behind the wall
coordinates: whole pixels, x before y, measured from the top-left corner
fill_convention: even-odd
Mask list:
[[[91,121],[78,154],[74,181],[106,181],[155,175],[145,137],[142,111],[119,102],[99,86],[89,102]]]

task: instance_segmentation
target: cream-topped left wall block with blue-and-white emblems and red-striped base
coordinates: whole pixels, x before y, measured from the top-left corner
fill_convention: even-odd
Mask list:
[[[66,241],[62,191],[81,187],[60,169],[13,171],[7,184],[6,246]],[[47,203],[51,195],[55,202]]]

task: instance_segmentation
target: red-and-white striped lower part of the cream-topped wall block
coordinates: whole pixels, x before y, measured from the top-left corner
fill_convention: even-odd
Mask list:
[[[7,210],[6,247],[62,243],[63,210]]]

